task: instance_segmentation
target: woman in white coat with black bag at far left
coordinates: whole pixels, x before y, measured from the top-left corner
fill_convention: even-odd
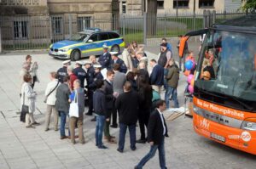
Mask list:
[[[34,120],[33,113],[36,110],[36,97],[37,93],[35,93],[31,87],[32,82],[32,76],[29,74],[26,74],[24,76],[24,83],[21,87],[21,98],[20,98],[20,104],[25,104],[28,106],[29,113],[26,114],[26,128],[33,128],[32,125],[39,125],[37,121]],[[21,108],[20,108],[21,110]]]

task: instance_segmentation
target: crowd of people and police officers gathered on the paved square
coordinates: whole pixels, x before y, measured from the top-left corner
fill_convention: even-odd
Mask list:
[[[108,149],[102,142],[104,135],[108,143],[118,144],[117,150],[122,153],[128,128],[131,150],[137,149],[136,144],[145,144],[147,141],[151,146],[148,155],[135,168],[142,168],[154,156],[156,149],[160,151],[160,167],[166,168],[164,138],[168,135],[162,112],[170,108],[170,100],[173,100],[173,107],[179,107],[179,68],[172,57],[171,44],[163,38],[158,58],[150,60],[137,42],[127,44],[121,55],[108,52],[106,45],[102,46],[102,50],[98,60],[91,55],[89,61],[76,61],[74,67],[70,60],[66,60],[59,70],[49,73],[50,82],[44,93],[47,107],[45,132],[49,131],[50,116],[53,114],[54,130],[60,130],[61,139],[70,138],[71,144],[75,144],[76,138],[79,138],[79,143],[85,144],[84,115],[95,115],[91,121],[96,121],[95,138],[98,149]],[[150,73],[148,65],[152,67]],[[33,118],[37,97],[33,87],[38,81],[37,70],[38,64],[32,63],[30,55],[26,56],[20,71],[20,105],[26,104],[29,108],[26,113],[26,128],[39,125]],[[164,91],[165,94],[162,94]],[[165,95],[164,100],[161,95]],[[88,106],[86,113],[84,106]],[[68,134],[65,128],[67,119]],[[137,121],[141,134],[139,139],[136,139]],[[110,134],[110,127],[118,126],[117,142]],[[79,130],[78,136],[75,128]]]

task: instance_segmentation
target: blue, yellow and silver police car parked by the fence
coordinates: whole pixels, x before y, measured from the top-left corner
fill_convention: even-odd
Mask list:
[[[115,31],[92,28],[80,31],[70,39],[51,44],[49,55],[59,59],[79,60],[91,54],[102,54],[103,45],[107,45],[110,51],[120,52],[125,47],[125,42]]]

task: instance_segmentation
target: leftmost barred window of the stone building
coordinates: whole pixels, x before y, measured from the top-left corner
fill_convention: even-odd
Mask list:
[[[28,37],[28,28],[27,21],[15,21],[15,39],[27,39]]]

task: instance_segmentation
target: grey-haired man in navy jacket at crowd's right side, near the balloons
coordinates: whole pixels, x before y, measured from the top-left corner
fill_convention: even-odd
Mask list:
[[[150,60],[150,65],[153,68],[150,75],[150,84],[152,85],[152,88],[160,94],[164,85],[165,70],[162,66],[156,63],[155,59]]]

